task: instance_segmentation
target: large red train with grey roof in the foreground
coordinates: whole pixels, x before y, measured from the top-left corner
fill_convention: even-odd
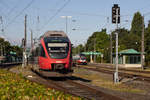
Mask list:
[[[63,31],[47,31],[35,43],[29,62],[32,69],[44,76],[70,76],[72,70],[72,44]]]

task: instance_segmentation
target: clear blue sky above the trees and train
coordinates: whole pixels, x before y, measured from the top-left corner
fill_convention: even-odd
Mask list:
[[[150,12],[149,0],[70,0],[67,2],[68,0],[0,0],[0,16],[3,20],[0,29],[4,28],[4,32],[0,31],[0,36],[6,37],[12,44],[20,44],[24,36],[25,14],[28,16],[28,43],[31,29],[35,38],[47,30],[66,31],[65,19],[60,16],[72,16],[68,19],[67,34],[72,43],[77,45],[85,43],[93,32],[100,31],[102,28],[107,28],[108,33],[115,29],[115,25],[111,24],[111,7],[115,3],[121,8],[119,27],[130,29],[135,12],[140,11],[142,15]],[[146,25],[149,19],[150,14],[145,15]]]

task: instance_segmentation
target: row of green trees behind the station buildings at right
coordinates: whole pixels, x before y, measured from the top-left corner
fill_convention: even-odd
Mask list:
[[[142,15],[140,12],[134,14],[131,29],[127,30],[125,28],[120,28],[113,31],[112,34],[112,47],[113,53],[115,53],[116,46],[116,32],[118,32],[119,38],[119,51],[125,49],[135,49],[141,51],[141,36],[142,36]],[[146,64],[150,65],[150,21],[145,28],[145,56]],[[94,32],[87,40],[86,45],[84,45],[84,51],[96,51],[104,54],[105,62],[109,62],[110,58],[110,35],[106,33],[106,29],[102,29],[100,32]],[[80,50],[80,52],[83,50]]]

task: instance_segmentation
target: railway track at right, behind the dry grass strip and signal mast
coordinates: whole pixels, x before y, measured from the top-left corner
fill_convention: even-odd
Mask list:
[[[112,74],[112,75],[115,72],[115,68],[108,68],[108,67],[104,67],[104,66],[96,66],[95,68],[92,68],[89,66],[88,67],[79,66],[79,67],[84,68],[84,69],[88,69],[88,70],[92,70],[92,71]],[[120,80],[123,78],[132,78],[134,80],[150,82],[150,72],[138,71],[138,70],[129,70],[129,69],[119,69],[118,74],[120,76]]]

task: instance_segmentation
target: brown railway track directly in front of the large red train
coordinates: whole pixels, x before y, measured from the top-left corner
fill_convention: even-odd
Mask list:
[[[47,78],[38,74],[31,81],[43,84],[49,88],[63,91],[86,100],[122,100],[116,96],[103,93],[98,87],[83,84],[77,77]],[[83,79],[82,79],[83,80]]]

